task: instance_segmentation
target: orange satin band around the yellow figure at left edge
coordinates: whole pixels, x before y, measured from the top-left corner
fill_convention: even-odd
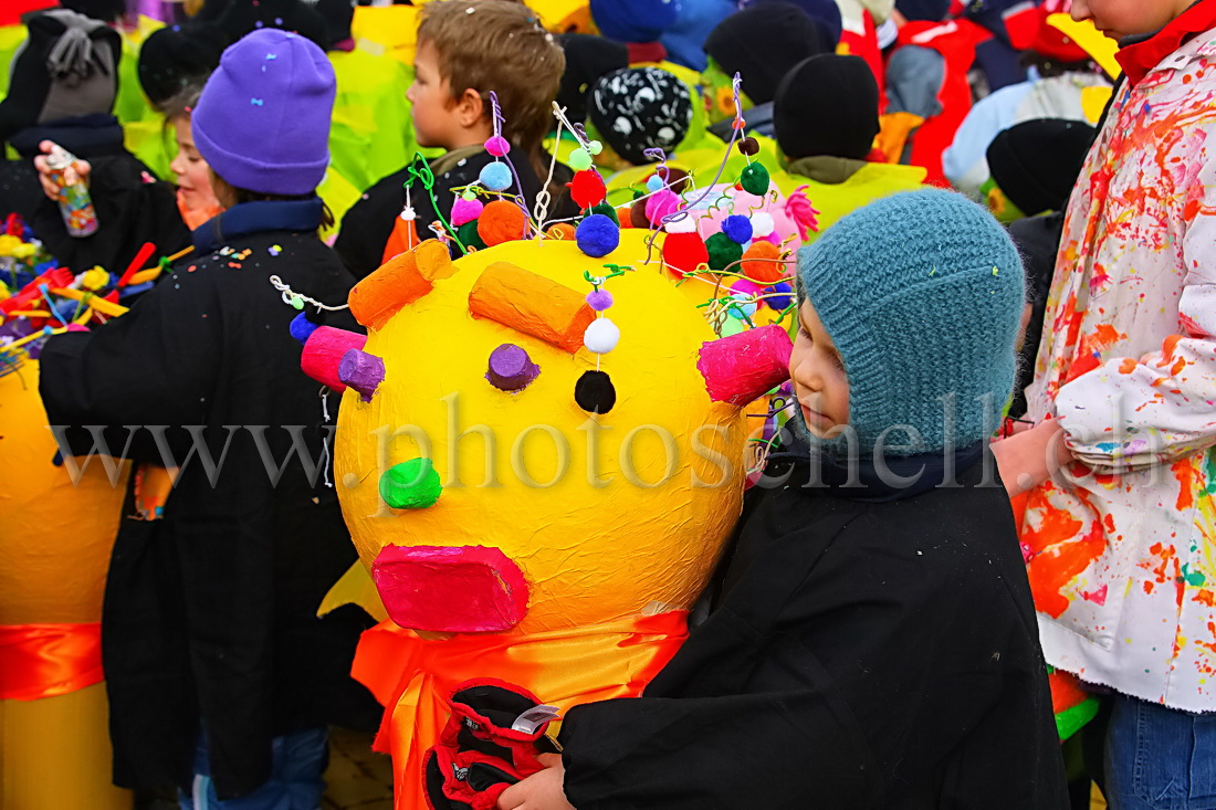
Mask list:
[[[105,680],[101,623],[0,625],[0,701],[36,701]]]

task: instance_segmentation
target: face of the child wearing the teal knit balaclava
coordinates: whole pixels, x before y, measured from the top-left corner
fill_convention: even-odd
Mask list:
[[[832,428],[849,423],[849,377],[811,302],[798,309],[798,339],[789,355],[789,378],[807,429],[831,438]]]

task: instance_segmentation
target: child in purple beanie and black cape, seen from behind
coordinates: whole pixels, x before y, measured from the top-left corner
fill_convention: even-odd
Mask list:
[[[360,628],[316,617],[355,551],[323,483],[297,311],[270,281],[330,303],[354,283],[317,236],[333,99],[325,52],[302,36],[229,47],[192,116],[226,210],[128,314],[41,355],[71,452],[96,440],[78,426],[102,426],[112,455],[180,467],[159,519],[123,522],[102,659],[116,783],[178,786],[185,808],[319,806],[326,725],[371,703],[349,677]],[[204,451],[214,467],[190,457]]]

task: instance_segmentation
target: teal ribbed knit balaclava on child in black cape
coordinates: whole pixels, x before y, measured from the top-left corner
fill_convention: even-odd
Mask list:
[[[1017,372],[1025,279],[985,209],[940,190],[879,199],[804,247],[798,279],[799,300],[844,360],[862,454],[896,424],[924,446],[901,451],[910,443],[896,431],[888,455],[963,449],[996,431]],[[848,446],[844,437],[820,444]]]

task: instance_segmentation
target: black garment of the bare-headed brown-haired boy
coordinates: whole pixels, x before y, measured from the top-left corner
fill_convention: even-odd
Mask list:
[[[531,201],[540,193],[541,179],[536,176],[527,159],[514,154],[512,158],[512,164],[519,173],[519,185],[523,186],[524,198],[529,201],[530,209]],[[438,210],[443,212],[445,220],[450,221],[452,203],[456,201],[452,189],[462,189],[477,182],[482,169],[492,162],[494,157],[485,150],[469,150],[468,154],[449,152],[430,162],[435,174],[433,189],[435,203]],[[553,173],[553,182],[564,184],[572,176],[569,169],[558,164],[557,171]],[[388,237],[393,234],[396,218],[405,208],[405,184],[410,179],[410,167],[383,178],[365,191],[362,198],[351,206],[350,210],[342,218],[342,229],[338,231],[338,238],[333,242],[333,249],[356,280],[371,275],[383,264],[384,246],[388,244]],[[510,191],[518,193],[519,187],[512,185]],[[430,224],[438,221],[437,206],[432,204],[421,182],[415,181],[410,189],[410,204],[417,215],[415,225],[418,229],[418,237],[432,238],[434,234],[430,230]],[[548,219],[573,216],[576,213],[564,187],[562,193],[553,195],[548,206]]]

